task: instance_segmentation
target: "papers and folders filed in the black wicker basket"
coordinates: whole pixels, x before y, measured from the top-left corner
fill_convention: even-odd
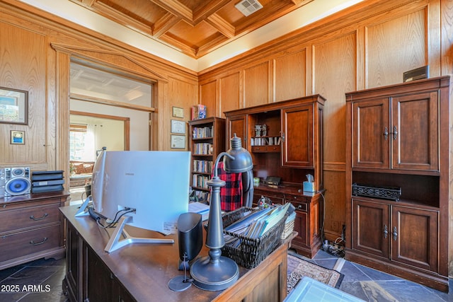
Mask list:
[[[285,205],[277,205],[276,207],[268,207],[259,211],[250,212],[242,219],[231,223],[225,231],[236,233],[247,238],[258,238],[263,236],[279,221],[281,221],[289,209],[290,203]],[[241,240],[236,236],[224,234],[225,244],[239,248]]]

